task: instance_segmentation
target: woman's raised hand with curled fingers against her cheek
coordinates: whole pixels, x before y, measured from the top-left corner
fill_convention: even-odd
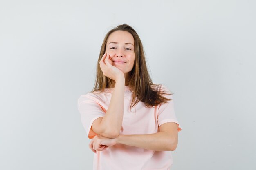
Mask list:
[[[110,59],[111,59],[111,56],[105,53],[102,56],[99,62],[99,65],[101,67],[101,71],[103,72],[103,75],[116,81],[119,76],[124,76],[124,73],[119,68],[112,66],[111,64],[112,61]]]

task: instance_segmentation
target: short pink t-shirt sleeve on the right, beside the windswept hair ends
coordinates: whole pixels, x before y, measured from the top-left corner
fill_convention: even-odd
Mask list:
[[[171,94],[171,92],[165,86],[163,86],[163,89],[165,93]],[[158,115],[157,115],[158,126],[166,122],[175,122],[176,124],[178,124],[178,132],[180,132],[182,128],[175,115],[173,95],[163,95],[163,96],[171,100],[169,100],[167,103],[162,103],[159,105]]]

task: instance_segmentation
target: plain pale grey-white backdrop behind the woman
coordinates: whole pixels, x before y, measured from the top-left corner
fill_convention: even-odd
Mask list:
[[[90,170],[77,99],[103,38],[139,34],[182,131],[172,170],[255,170],[254,0],[1,0],[0,169]]]

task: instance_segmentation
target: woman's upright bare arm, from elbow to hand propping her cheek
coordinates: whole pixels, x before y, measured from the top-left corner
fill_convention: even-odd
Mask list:
[[[124,73],[110,64],[106,54],[103,55],[100,66],[105,76],[115,80],[115,87],[105,116],[99,117],[92,123],[92,130],[104,137],[116,138],[121,130],[124,116]]]

